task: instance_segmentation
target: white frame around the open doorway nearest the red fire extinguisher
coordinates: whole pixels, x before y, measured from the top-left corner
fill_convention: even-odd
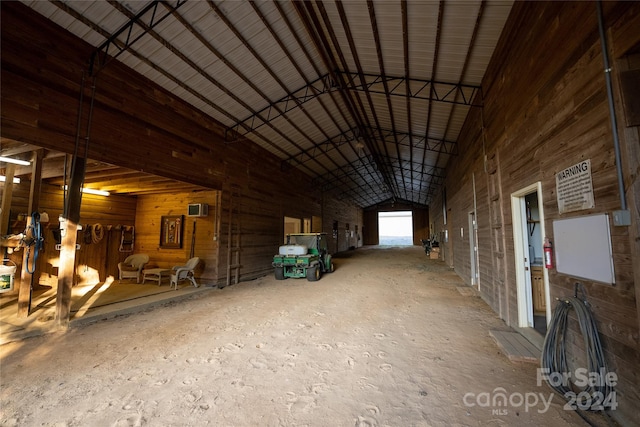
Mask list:
[[[518,301],[518,326],[521,328],[533,327],[533,298],[531,290],[530,260],[528,246],[525,251],[525,233],[527,233],[525,196],[536,193],[538,196],[538,209],[540,214],[540,233],[542,238],[546,236],[544,208],[542,200],[542,183],[540,181],[511,193],[511,215],[513,226],[513,247],[516,275],[516,291]],[[520,260],[527,260],[520,262]],[[528,267],[528,270],[525,269]],[[529,275],[527,275],[529,273]],[[544,297],[546,301],[546,321],[551,319],[551,304],[549,303],[549,274],[546,268],[542,269],[544,281]],[[528,280],[527,280],[528,279]]]

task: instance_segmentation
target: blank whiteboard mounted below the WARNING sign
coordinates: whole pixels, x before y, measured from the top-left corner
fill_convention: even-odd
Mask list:
[[[585,215],[553,221],[558,273],[615,283],[609,215]]]

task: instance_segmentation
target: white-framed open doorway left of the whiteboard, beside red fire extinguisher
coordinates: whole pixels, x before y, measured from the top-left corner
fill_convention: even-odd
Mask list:
[[[544,212],[538,182],[511,195],[518,294],[518,325],[542,335],[551,319],[547,271],[543,266]]]

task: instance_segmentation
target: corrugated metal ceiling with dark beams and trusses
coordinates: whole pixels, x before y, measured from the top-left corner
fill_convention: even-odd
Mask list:
[[[361,207],[429,204],[512,6],[24,3]]]

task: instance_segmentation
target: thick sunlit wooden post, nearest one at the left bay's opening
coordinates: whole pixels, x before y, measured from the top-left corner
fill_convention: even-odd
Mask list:
[[[71,288],[75,277],[76,241],[78,223],[80,222],[80,205],[82,203],[82,181],[87,165],[85,158],[73,160],[71,181],[67,193],[64,225],[61,225],[63,236],[60,248],[60,268],[58,276],[58,293],[56,297],[56,323],[61,328],[69,326],[71,313]]]

